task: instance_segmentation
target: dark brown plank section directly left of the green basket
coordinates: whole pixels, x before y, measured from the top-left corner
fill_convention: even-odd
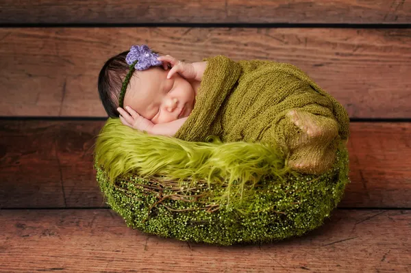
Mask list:
[[[99,207],[93,170],[103,121],[0,122],[1,207]]]

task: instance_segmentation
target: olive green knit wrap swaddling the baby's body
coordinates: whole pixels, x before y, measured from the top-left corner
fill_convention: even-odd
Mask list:
[[[301,172],[332,166],[338,144],[349,137],[349,117],[306,73],[291,64],[222,55],[206,61],[195,107],[175,138],[266,142]]]

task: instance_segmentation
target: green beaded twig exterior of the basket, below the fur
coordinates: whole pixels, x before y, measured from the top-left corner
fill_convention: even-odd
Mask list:
[[[153,181],[125,175],[111,183],[107,172],[98,165],[96,168],[105,201],[127,226],[162,237],[221,245],[271,242],[316,229],[329,217],[349,183],[348,154],[340,145],[333,168],[321,176],[285,174],[283,181],[262,179],[252,198],[242,204],[247,211],[231,205],[210,213],[203,207],[213,202],[203,205],[166,198],[158,203],[159,194],[144,190],[155,185]],[[221,195],[224,191],[222,187],[201,189],[198,194]],[[172,196],[175,190],[164,188],[160,192],[161,196]]]

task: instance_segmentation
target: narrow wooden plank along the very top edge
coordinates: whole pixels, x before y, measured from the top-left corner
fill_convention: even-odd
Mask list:
[[[410,23],[409,1],[3,0],[0,23]]]

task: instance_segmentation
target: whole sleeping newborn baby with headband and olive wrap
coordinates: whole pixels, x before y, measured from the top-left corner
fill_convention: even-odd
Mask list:
[[[345,109],[290,64],[221,55],[188,64],[133,46],[104,64],[99,95],[123,125],[187,141],[268,142],[305,173],[328,170],[348,138]]]

